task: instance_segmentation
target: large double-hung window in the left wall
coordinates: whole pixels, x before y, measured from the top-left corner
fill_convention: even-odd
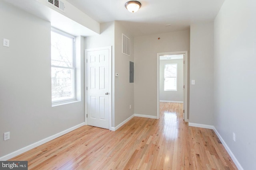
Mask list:
[[[51,31],[52,103],[76,99],[74,38],[56,29]]]

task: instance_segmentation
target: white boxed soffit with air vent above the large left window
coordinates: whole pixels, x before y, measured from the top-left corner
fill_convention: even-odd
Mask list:
[[[74,36],[88,36],[100,33],[100,23],[78,10],[78,8],[66,0],[62,0],[65,6],[64,12],[49,4],[48,0],[5,1],[43,20],[50,21],[52,27],[56,27]]]

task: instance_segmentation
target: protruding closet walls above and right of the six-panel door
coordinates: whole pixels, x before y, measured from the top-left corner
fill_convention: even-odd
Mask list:
[[[112,127],[116,127],[134,114],[134,83],[129,83],[129,63],[134,61],[133,37],[118,21],[102,23],[100,30],[100,35],[86,37],[85,47],[112,46]],[[122,33],[130,38],[130,57],[122,54]]]

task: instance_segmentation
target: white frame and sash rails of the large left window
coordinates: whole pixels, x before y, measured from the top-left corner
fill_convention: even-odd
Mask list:
[[[70,35],[64,31],[61,31],[59,29],[56,29],[54,27],[51,28],[51,31],[54,31],[56,33],[59,33],[61,35],[64,35],[66,37],[70,37],[73,39],[73,56],[72,56],[72,67],[64,67],[64,66],[55,66],[55,65],[51,65],[51,68],[52,67],[55,67],[55,68],[68,68],[68,69],[73,69],[73,78],[74,78],[74,81],[73,81],[73,87],[74,87],[74,98],[70,98],[70,99],[66,99],[66,100],[57,100],[57,101],[54,101],[52,102],[52,106],[59,106],[59,105],[62,105],[62,104],[70,104],[70,103],[74,103],[76,102],[76,37],[73,36],[73,35]]]

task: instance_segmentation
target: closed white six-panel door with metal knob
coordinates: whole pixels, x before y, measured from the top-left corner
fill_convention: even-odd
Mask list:
[[[87,123],[109,129],[109,49],[86,51]]]

